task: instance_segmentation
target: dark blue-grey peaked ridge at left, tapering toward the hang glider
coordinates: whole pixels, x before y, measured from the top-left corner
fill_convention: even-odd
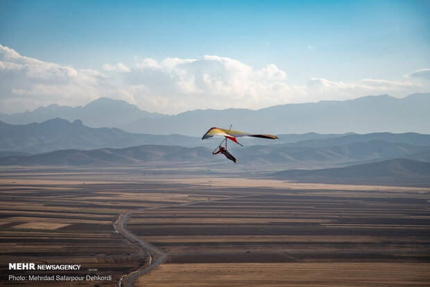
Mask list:
[[[128,148],[142,144],[198,146],[201,139],[180,134],[132,134],[117,128],[89,128],[79,120],[51,119],[43,123],[10,125],[0,121],[0,151],[46,153],[68,148]]]

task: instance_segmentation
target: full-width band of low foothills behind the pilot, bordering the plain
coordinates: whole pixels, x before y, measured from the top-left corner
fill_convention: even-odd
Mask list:
[[[99,148],[94,150],[56,150],[39,155],[9,155],[0,157],[0,165],[17,166],[227,166],[228,168],[315,168],[345,166],[384,159],[407,157],[429,160],[430,146],[408,143],[367,141],[332,147],[300,147],[283,145],[232,146],[230,153],[238,159],[233,164],[223,155],[212,155],[212,148],[144,145],[130,148]]]

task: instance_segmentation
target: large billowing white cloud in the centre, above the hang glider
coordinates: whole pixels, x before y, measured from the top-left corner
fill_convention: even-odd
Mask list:
[[[237,60],[216,55],[200,59],[166,58],[161,62],[135,58],[130,72],[118,73],[128,91],[135,85],[137,103],[155,104],[145,98],[157,97],[155,110],[183,112],[197,108],[252,107],[284,103],[291,90],[286,73],[275,64],[253,69]],[[187,107],[188,105],[188,107]],[[147,108],[148,109],[148,108]]]

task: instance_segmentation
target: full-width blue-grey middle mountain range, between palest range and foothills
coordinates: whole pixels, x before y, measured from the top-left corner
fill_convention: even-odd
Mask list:
[[[19,153],[47,153],[54,150],[128,148],[141,145],[164,145],[214,149],[221,139],[202,141],[200,137],[180,134],[132,134],[117,128],[89,128],[79,120],[70,123],[51,119],[43,123],[10,125],[0,122],[0,152],[3,156]],[[229,143],[229,150],[262,162],[345,162],[411,156],[430,146],[429,134],[279,134],[280,139],[241,138],[244,148]],[[13,152],[13,153],[12,153]],[[0,153],[0,155],[1,155]],[[317,156],[319,155],[319,156]],[[422,157],[424,157],[423,155]],[[320,158],[320,159],[318,159]]]

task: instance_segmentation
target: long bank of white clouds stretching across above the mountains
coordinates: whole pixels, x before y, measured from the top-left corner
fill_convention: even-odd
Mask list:
[[[275,64],[255,69],[217,55],[162,61],[135,57],[129,67],[122,62],[106,63],[96,71],[28,58],[0,45],[0,112],[23,112],[52,103],[85,105],[101,96],[167,114],[207,108],[259,109],[371,94],[429,92],[429,75],[430,69],[420,69],[406,74],[404,81],[310,78],[304,85],[290,85],[288,73]]]

